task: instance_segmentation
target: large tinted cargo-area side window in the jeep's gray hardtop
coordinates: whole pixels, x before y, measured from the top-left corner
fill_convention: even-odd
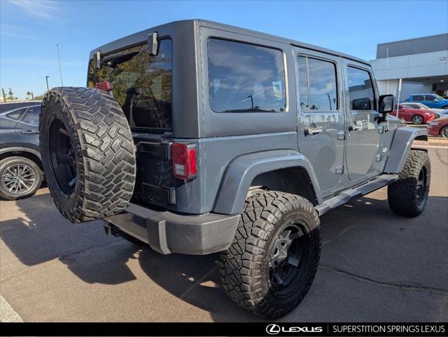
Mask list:
[[[208,41],[210,105],[215,112],[286,109],[283,54],[239,42]]]

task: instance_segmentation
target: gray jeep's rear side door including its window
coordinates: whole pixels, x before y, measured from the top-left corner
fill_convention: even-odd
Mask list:
[[[295,48],[298,147],[311,161],[321,192],[331,194],[344,173],[342,73],[337,56]]]

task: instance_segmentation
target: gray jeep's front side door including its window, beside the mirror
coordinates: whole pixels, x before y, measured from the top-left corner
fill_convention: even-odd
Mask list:
[[[370,67],[344,60],[347,117],[347,172],[350,180],[366,180],[380,173],[384,161],[380,150],[377,94]]]

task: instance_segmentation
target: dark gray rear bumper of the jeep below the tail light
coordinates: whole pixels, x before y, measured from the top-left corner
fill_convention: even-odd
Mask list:
[[[104,220],[146,242],[159,253],[204,255],[230,246],[240,215],[205,213],[190,216],[129,204],[124,212]]]

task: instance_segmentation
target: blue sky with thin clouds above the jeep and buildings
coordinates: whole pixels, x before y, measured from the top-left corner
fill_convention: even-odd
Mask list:
[[[18,98],[85,86],[89,52],[143,29],[202,18],[372,60],[376,45],[448,32],[439,1],[0,0],[0,87]]]

